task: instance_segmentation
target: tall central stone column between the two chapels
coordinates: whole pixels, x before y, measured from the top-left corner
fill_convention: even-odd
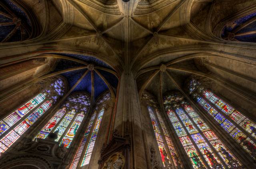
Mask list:
[[[121,136],[125,133],[130,135],[130,168],[144,169],[147,164],[142,132],[143,119],[134,75],[122,73],[119,85],[114,130]]]

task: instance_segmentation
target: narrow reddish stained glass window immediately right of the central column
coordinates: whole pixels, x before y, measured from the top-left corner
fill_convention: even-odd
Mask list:
[[[156,141],[158,143],[162,163],[164,166],[168,163],[174,163],[176,167],[180,167],[180,162],[174,148],[173,141],[166,130],[166,126],[158,109],[156,100],[148,92],[143,92],[142,98],[144,98],[148,104],[148,112],[154,129]],[[168,153],[166,153],[166,151],[168,151]],[[172,162],[170,162],[170,160]]]

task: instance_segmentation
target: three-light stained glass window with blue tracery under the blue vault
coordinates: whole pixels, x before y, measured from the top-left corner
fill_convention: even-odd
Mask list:
[[[82,92],[70,95],[62,108],[52,116],[35,138],[45,139],[50,132],[55,132],[55,141],[60,141],[60,145],[69,148],[84,119],[84,114],[87,113],[89,98],[88,94]]]

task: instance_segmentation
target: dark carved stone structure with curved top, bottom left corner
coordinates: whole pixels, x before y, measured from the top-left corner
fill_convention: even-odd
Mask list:
[[[49,139],[37,139],[32,141],[24,138],[15,149],[10,149],[1,153],[0,169],[16,168],[33,169],[55,169],[56,167],[65,168],[68,165],[63,161],[66,156],[67,148]],[[53,166],[52,166],[53,165]]]

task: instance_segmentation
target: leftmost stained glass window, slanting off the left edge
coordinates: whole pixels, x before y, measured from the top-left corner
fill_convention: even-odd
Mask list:
[[[50,82],[52,82],[51,85],[42,93],[0,120],[0,152],[6,151],[52,106],[52,103],[57,101],[59,96],[64,94],[65,87],[62,79],[53,78]],[[54,86],[55,83],[59,85]],[[58,88],[58,92],[56,88]]]

